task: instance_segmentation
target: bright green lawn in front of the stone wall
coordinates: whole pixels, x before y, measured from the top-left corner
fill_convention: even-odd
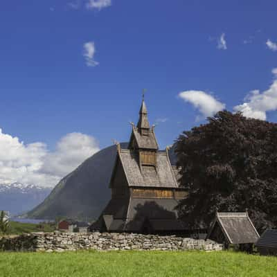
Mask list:
[[[0,252],[0,276],[277,276],[277,258],[231,251]]]

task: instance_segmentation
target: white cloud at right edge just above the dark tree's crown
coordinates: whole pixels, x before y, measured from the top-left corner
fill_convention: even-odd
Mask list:
[[[277,109],[277,68],[272,69],[274,81],[269,89],[260,92],[254,90],[244,98],[242,105],[235,106],[234,111],[242,111],[244,116],[257,118],[261,120],[267,119],[267,111],[275,111]]]

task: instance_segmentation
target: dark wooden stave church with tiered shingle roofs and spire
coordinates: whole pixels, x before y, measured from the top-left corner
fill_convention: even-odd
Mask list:
[[[111,200],[91,225],[91,231],[184,232],[186,226],[178,220],[175,207],[187,192],[179,187],[177,176],[178,169],[171,165],[168,150],[159,151],[143,100],[139,123],[132,125],[128,149],[117,145],[109,184]]]

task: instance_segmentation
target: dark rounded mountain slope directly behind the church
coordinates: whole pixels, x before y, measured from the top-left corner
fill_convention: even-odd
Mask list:
[[[120,143],[127,148],[127,143]],[[170,152],[170,159],[175,159]],[[96,220],[111,198],[109,179],[116,159],[116,145],[100,150],[64,177],[51,194],[26,214],[28,218],[54,220],[70,217]]]

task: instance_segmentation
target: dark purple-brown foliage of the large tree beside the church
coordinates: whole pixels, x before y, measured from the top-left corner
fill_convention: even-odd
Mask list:
[[[176,143],[181,186],[189,196],[179,215],[208,227],[219,211],[248,208],[256,228],[277,227],[277,125],[220,111]]]

